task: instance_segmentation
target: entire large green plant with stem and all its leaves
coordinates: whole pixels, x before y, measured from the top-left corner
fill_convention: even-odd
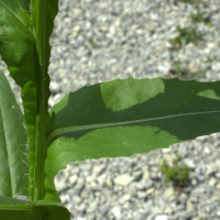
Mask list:
[[[67,164],[131,156],[219,132],[220,82],[116,79],[70,92],[48,112],[50,36],[58,0],[0,0],[0,217],[66,220],[54,177]],[[29,201],[20,200],[29,196]]]

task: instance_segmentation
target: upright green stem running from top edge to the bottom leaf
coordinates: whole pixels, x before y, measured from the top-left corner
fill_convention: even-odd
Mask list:
[[[37,10],[36,33],[40,40],[40,113],[36,120],[36,151],[35,151],[35,176],[33,201],[43,200],[44,198],[44,168],[46,157],[46,122],[47,122],[47,89],[48,89],[48,48],[46,40],[46,0],[33,0],[34,9]]]

